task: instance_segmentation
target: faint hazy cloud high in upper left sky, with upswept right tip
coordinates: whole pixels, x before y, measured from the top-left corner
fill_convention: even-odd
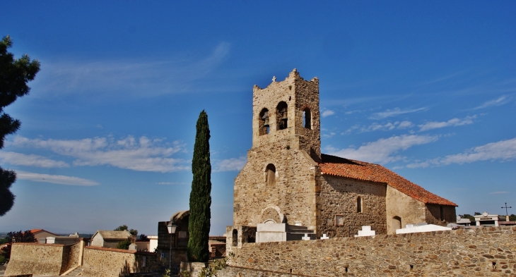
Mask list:
[[[48,61],[31,87],[38,92],[116,93],[149,97],[199,90],[199,79],[225,61],[230,44],[221,42],[201,59],[163,57],[156,60]]]

